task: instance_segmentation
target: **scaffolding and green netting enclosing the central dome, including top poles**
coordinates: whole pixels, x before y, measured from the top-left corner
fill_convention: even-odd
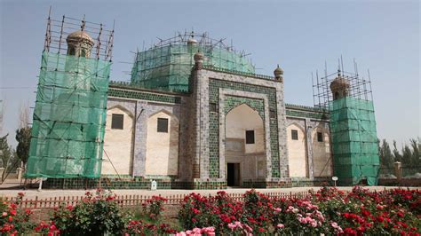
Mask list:
[[[254,73],[255,67],[244,51],[235,51],[225,39],[212,39],[208,33],[178,33],[169,39],[158,38],[149,49],[137,51],[131,69],[131,83],[153,90],[187,92],[194,55],[203,53],[203,65]]]

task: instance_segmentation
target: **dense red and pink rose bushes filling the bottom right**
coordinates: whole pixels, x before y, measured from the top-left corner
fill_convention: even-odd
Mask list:
[[[419,190],[369,192],[358,186],[350,193],[324,187],[300,199],[269,198],[254,190],[244,193],[243,201],[225,192],[191,193],[179,222],[185,229],[211,226],[217,234],[234,235],[419,235],[420,196]]]

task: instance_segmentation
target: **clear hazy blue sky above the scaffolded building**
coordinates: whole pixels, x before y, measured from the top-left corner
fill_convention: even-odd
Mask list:
[[[112,80],[129,81],[131,51],[177,31],[208,32],[250,53],[257,73],[284,71],[285,101],[313,106],[311,73],[338,67],[372,82],[377,136],[398,146],[421,137],[418,1],[19,1],[0,0],[0,135],[19,125],[20,106],[35,106],[46,18],[115,20]],[[33,109],[31,108],[31,112]],[[32,115],[31,115],[32,116]]]

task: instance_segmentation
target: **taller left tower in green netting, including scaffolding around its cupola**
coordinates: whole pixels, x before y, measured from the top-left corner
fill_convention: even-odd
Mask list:
[[[99,177],[113,35],[48,18],[27,177]]]

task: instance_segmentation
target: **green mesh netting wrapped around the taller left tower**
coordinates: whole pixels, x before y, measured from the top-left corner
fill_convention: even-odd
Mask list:
[[[99,177],[110,65],[44,51],[27,177]]]

